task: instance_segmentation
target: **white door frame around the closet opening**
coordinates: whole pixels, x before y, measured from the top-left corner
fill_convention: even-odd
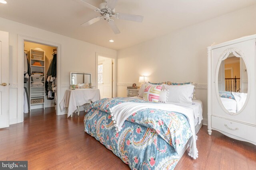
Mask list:
[[[18,34],[18,96],[17,96],[17,123],[24,121],[24,113],[23,113],[23,104],[24,101],[22,100],[24,98],[24,76],[21,74],[21,72],[24,72],[24,41],[32,42],[32,43],[38,43],[42,45],[48,45],[52,47],[57,48],[57,86],[58,86],[58,93],[57,93],[57,106],[56,106],[56,114],[61,115],[60,109],[58,109],[60,100],[60,92],[61,92],[61,83],[60,83],[60,77],[61,77],[61,44],[55,43],[52,41],[47,41],[44,39],[38,39],[35,37],[30,37],[27,35],[20,35]]]

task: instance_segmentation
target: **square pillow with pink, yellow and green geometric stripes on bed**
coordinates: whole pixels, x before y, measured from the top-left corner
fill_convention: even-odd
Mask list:
[[[145,85],[143,100],[150,102],[158,102],[162,86]]]

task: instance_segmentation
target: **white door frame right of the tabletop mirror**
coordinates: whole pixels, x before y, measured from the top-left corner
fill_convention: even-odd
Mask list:
[[[116,66],[116,57],[114,56],[111,56],[111,55],[105,55],[105,54],[101,54],[101,53],[96,53],[96,62],[95,62],[95,87],[96,89],[98,88],[98,57],[99,56],[102,56],[102,57],[106,57],[106,58],[109,58],[109,59],[112,59],[113,61],[113,69],[112,69],[112,78],[113,78],[113,82],[112,82],[112,96],[113,98],[116,97],[116,78],[117,78],[117,66]]]

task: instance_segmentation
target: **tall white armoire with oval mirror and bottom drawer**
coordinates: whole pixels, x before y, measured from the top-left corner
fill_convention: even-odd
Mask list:
[[[256,35],[207,49],[209,135],[256,145]]]

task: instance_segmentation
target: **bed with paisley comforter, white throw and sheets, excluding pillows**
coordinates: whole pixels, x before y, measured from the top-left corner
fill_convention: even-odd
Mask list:
[[[118,117],[114,114],[120,110],[124,112],[125,108],[128,108],[129,113],[137,106],[141,109],[130,112],[130,116],[119,127]],[[172,109],[164,109],[169,106],[174,110],[190,112],[192,118],[190,116],[188,119],[188,115]],[[200,100],[193,100],[190,104],[159,104],[144,101],[140,97],[105,98],[92,103],[86,112],[86,133],[112,150],[131,169],[174,169],[188,147],[188,154],[194,159],[198,157],[195,134],[202,126]]]

